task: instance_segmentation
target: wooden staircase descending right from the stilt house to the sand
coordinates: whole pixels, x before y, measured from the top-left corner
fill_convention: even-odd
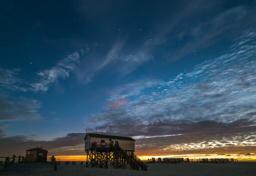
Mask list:
[[[148,166],[143,163],[133,152],[126,152],[118,144],[112,145],[112,147],[114,150],[114,155],[124,159],[127,164],[131,166],[131,169],[147,171]]]

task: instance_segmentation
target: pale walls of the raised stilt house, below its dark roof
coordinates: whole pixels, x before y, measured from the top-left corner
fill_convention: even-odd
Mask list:
[[[85,149],[90,149],[92,147],[93,142],[101,142],[101,140],[105,140],[106,143],[110,143],[110,138],[90,137],[90,138],[86,138],[86,140],[85,140]],[[135,141],[121,140],[121,139],[114,139],[114,138],[111,138],[111,140],[113,141],[113,144],[115,144],[115,141],[118,141],[119,146],[123,150],[135,151]]]

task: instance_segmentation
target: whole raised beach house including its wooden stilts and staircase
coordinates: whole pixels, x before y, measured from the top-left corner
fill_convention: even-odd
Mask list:
[[[87,153],[86,167],[106,167],[147,170],[135,154],[135,141],[131,137],[86,133],[84,138]]]

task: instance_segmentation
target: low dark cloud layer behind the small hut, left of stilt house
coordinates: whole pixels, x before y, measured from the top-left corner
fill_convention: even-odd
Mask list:
[[[35,135],[5,137],[0,139],[0,155],[24,155],[26,150],[41,146],[49,151],[48,155],[83,155],[84,137],[85,133],[69,133],[50,141],[38,140]]]

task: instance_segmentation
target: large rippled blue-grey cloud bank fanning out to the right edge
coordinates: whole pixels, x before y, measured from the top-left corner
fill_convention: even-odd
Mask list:
[[[143,150],[159,145],[167,152],[255,146],[255,48],[256,32],[249,31],[221,56],[149,86],[151,94],[139,85],[125,85],[110,92],[108,100],[126,98],[129,103],[108,106],[85,124],[103,133],[145,136],[136,142]],[[153,136],[162,137],[150,144]]]

